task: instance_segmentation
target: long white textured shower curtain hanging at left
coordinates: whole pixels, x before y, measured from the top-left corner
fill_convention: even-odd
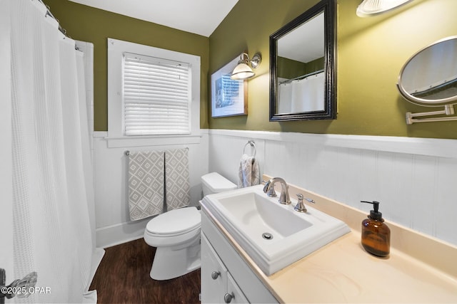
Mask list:
[[[14,278],[38,273],[26,303],[82,303],[94,254],[83,53],[37,0],[11,9]],[[83,122],[83,123],[81,123]],[[12,281],[13,277],[9,276]]]

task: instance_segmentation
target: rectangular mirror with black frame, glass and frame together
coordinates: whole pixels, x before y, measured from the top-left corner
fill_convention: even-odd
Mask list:
[[[336,119],[335,1],[270,36],[270,121]]]

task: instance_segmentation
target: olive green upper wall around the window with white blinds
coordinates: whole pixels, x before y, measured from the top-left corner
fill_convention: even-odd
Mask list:
[[[201,127],[208,127],[209,38],[110,13],[68,0],[44,0],[67,34],[94,43],[94,130],[108,130],[107,38],[201,57]]]

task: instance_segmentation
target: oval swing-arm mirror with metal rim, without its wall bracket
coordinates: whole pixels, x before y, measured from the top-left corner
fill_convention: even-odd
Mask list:
[[[436,41],[409,58],[398,75],[397,88],[416,105],[457,103],[457,36]]]

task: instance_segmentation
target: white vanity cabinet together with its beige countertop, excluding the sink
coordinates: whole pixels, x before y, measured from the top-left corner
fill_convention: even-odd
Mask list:
[[[386,221],[390,256],[371,256],[360,243],[365,213],[289,186],[351,232],[267,276],[202,201],[202,303],[457,303],[456,246]]]

